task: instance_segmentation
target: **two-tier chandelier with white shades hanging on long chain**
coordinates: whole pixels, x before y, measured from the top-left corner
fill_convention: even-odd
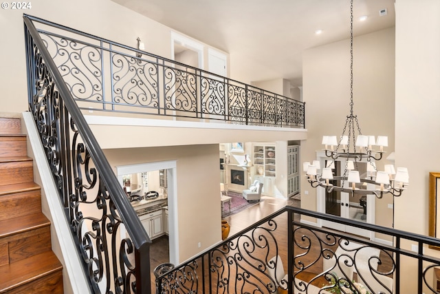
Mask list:
[[[344,129],[339,140],[337,136],[323,136],[322,144],[325,145],[325,167],[320,167],[320,161],[304,162],[303,171],[311,187],[324,187],[331,191],[367,195],[374,194],[382,198],[385,193],[401,196],[409,182],[408,169],[393,165],[384,165],[384,171],[377,171],[375,161],[381,160],[384,147],[388,147],[386,136],[364,136],[361,133],[358,117],[353,114],[353,0],[350,6],[351,31],[350,31],[350,114],[345,120]],[[373,149],[373,146],[376,149]],[[340,176],[333,174],[335,162],[345,158],[345,167]],[[366,176],[360,178],[359,162],[366,162]],[[339,185],[336,185],[339,183]]]

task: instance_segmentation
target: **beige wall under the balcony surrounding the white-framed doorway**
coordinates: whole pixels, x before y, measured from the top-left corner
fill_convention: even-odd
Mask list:
[[[104,149],[104,154],[113,169],[177,160],[180,262],[221,240],[219,145]]]

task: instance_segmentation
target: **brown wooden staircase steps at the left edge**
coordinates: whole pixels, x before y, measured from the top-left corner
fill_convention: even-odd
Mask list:
[[[0,293],[63,293],[19,118],[0,118]]]

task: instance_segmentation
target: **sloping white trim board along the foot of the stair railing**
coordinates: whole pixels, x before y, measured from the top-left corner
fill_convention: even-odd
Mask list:
[[[45,196],[50,209],[50,217],[52,219],[51,226],[56,231],[56,236],[52,235],[52,238],[58,238],[58,243],[63,255],[62,258],[64,260],[63,266],[69,276],[67,280],[69,280],[74,293],[91,293],[89,282],[85,277],[84,268],[80,262],[80,256],[78,255],[64,213],[63,204],[61,204],[61,199],[58,196],[54,178],[52,177],[50,167],[47,164],[46,156],[32,114],[30,114],[30,112],[23,112],[23,121],[28,132],[29,143],[32,146],[32,151],[34,153],[34,162],[39,171],[41,181],[44,183],[44,187],[41,187],[44,191],[42,197]]]

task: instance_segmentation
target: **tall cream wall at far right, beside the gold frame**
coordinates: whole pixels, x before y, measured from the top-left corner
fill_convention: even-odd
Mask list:
[[[428,235],[428,173],[440,171],[439,15],[440,1],[396,0],[395,157],[398,166],[408,167],[410,185],[395,200],[395,228],[423,235]],[[410,244],[404,248],[410,250]],[[403,269],[406,293],[417,293],[411,278],[416,266]]]

